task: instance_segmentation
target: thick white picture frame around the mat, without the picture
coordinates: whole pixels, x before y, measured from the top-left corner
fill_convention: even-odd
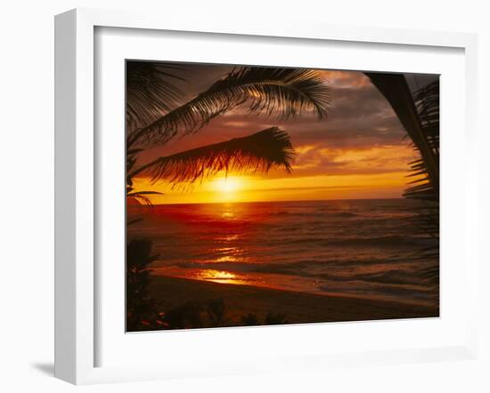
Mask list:
[[[77,9],[58,15],[55,20],[55,376],[71,383],[86,384],[110,381],[139,381],[165,379],[195,375],[223,375],[227,373],[252,373],[255,371],[323,369],[331,365],[373,365],[385,363],[407,363],[446,359],[474,358],[478,352],[477,301],[469,301],[467,313],[461,317],[464,333],[457,340],[445,345],[411,349],[387,347],[379,350],[345,349],[335,353],[319,350],[290,354],[276,354],[252,361],[244,359],[226,360],[225,351],[211,356],[208,366],[188,365],[175,362],[166,365],[158,362],[145,364],[100,365],[97,350],[100,340],[101,315],[98,306],[100,291],[99,270],[95,257],[98,253],[97,203],[100,184],[98,180],[98,159],[96,118],[97,82],[94,69],[97,53],[95,30],[97,28],[136,28],[143,31],[193,32],[216,35],[240,35],[280,38],[300,38],[307,43],[314,41],[334,41],[337,43],[384,44],[396,46],[417,46],[430,51],[431,48],[454,48],[464,51],[464,134],[466,144],[467,169],[464,172],[467,188],[464,190],[464,217],[461,234],[464,236],[463,272],[466,280],[460,290],[468,298],[477,295],[478,254],[477,237],[477,159],[471,155],[477,138],[475,121],[475,101],[477,97],[477,41],[476,36],[460,33],[437,33],[380,28],[341,28],[317,26],[308,23],[282,25],[269,23],[254,24],[253,21],[192,20],[167,18],[159,20],[158,15],[136,14],[135,12],[110,12]],[[142,30],[139,30],[142,31]],[[444,100],[444,96],[443,96]],[[444,124],[444,122],[443,122]],[[443,125],[444,127],[444,125]],[[443,166],[444,169],[444,166]],[[102,283],[102,284],[101,284]],[[442,285],[444,285],[444,278]],[[444,317],[444,316],[443,316]],[[412,326],[405,326],[411,329]],[[316,334],[324,325],[296,325],[293,327],[268,327],[264,333],[269,337],[279,332],[294,334]],[[339,329],[346,329],[338,325]],[[401,328],[401,325],[400,325]],[[268,330],[267,330],[268,329]],[[270,329],[273,329],[271,331]],[[283,329],[290,329],[284,331]],[[295,329],[294,332],[291,329]],[[316,333],[314,333],[314,331]],[[192,332],[193,337],[207,334],[209,341],[216,341],[213,333]],[[229,333],[232,332],[232,333]],[[242,331],[243,332],[243,331]],[[257,329],[255,330],[257,332]],[[123,333],[124,332],[119,332]],[[188,332],[186,332],[188,333]],[[227,330],[229,340],[236,340],[239,331]],[[280,335],[280,334],[279,334]],[[143,336],[143,335],[141,335]],[[106,335],[107,337],[107,335]],[[178,341],[179,336],[174,335]],[[199,354],[198,354],[199,355]]]

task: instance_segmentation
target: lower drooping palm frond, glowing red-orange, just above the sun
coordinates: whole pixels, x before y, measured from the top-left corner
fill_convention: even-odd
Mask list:
[[[291,171],[295,152],[290,137],[277,127],[224,142],[162,156],[128,177],[147,174],[153,182],[176,185],[206,179],[217,172],[268,172],[273,165]]]

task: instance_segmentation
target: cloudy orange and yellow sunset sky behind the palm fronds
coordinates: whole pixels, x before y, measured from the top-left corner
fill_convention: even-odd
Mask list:
[[[187,64],[179,87],[192,99],[232,67]],[[141,163],[189,148],[230,140],[279,126],[288,132],[296,150],[290,174],[273,169],[262,175],[220,173],[191,188],[172,189],[159,182],[136,178],[137,190],[155,190],[154,204],[249,202],[318,199],[363,199],[401,197],[407,164],[416,154],[404,139],[405,132],[388,102],[367,76],[355,71],[320,71],[331,87],[331,108],[326,120],[312,114],[289,121],[248,115],[247,108],[218,116],[196,134],[170,140],[164,147],[142,155]],[[408,75],[416,89],[437,76]]]

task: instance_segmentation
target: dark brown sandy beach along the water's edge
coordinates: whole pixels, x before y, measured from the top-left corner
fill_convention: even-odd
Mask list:
[[[210,299],[222,299],[225,301],[225,321],[221,326],[243,325],[241,317],[248,314],[254,314],[259,321],[263,321],[269,312],[285,315],[290,324],[439,315],[437,307],[407,302],[297,293],[177,277],[151,277],[150,291],[161,302],[162,312],[187,301],[206,302]]]

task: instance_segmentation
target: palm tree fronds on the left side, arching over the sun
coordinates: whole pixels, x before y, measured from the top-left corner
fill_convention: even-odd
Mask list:
[[[138,174],[178,184],[220,171],[268,172],[280,166],[290,172],[295,156],[289,135],[277,127],[139,165],[139,153],[144,148],[198,132],[216,116],[237,107],[280,120],[305,111],[313,112],[319,120],[327,117],[329,89],[314,70],[233,68],[208,90],[181,105],[177,100],[182,92],[169,82],[183,79],[178,71],[178,67],[162,63],[127,62],[127,197],[143,203],[150,203],[148,196],[155,192],[134,191],[133,179]]]

